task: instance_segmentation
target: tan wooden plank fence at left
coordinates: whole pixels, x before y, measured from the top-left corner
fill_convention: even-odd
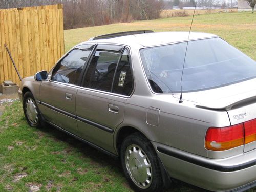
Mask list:
[[[4,45],[20,75],[50,70],[64,54],[62,4],[0,10],[0,83],[20,83]]]

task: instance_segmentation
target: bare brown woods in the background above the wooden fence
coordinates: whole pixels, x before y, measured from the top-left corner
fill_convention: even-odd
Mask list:
[[[0,0],[0,9],[57,3],[65,29],[156,19],[164,7],[163,0]]]

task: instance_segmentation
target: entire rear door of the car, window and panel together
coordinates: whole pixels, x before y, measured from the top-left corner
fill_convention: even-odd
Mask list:
[[[113,133],[123,121],[132,88],[128,50],[98,45],[76,95],[77,125],[82,138],[114,153]]]

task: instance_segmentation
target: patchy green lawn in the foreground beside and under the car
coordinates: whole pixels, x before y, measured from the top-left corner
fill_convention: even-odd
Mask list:
[[[0,121],[0,191],[132,191],[120,162],[48,125],[30,127],[22,104]],[[23,177],[22,177],[23,176]],[[200,191],[175,182],[168,191]]]

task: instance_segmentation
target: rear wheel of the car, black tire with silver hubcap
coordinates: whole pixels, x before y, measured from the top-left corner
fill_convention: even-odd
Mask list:
[[[124,175],[136,191],[163,190],[157,154],[143,135],[134,133],[126,137],[121,145],[120,158]]]

